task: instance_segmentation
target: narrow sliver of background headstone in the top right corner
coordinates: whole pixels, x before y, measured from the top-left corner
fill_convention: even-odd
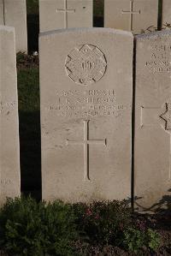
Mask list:
[[[170,25],[170,26],[169,26]],[[162,0],[162,28],[171,27],[171,2]]]

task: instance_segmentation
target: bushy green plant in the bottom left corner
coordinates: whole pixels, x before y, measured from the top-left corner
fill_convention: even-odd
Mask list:
[[[0,211],[0,246],[12,255],[71,255],[77,235],[72,206],[60,201],[9,199]]]

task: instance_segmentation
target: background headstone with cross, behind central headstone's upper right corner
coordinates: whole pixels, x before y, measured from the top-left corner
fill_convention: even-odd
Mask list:
[[[158,0],[105,0],[104,27],[143,33],[157,27]]]

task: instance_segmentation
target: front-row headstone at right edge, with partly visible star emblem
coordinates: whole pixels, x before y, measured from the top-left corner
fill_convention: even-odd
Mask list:
[[[171,182],[171,32],[137,37],[135,204],[164,205]]]

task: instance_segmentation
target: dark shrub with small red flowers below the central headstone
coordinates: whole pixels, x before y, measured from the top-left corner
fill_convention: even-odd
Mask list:
[[[74,205],[77,225],[88,241],[119,245],[122,230],[131,222],[125,202],[94,202]]]

